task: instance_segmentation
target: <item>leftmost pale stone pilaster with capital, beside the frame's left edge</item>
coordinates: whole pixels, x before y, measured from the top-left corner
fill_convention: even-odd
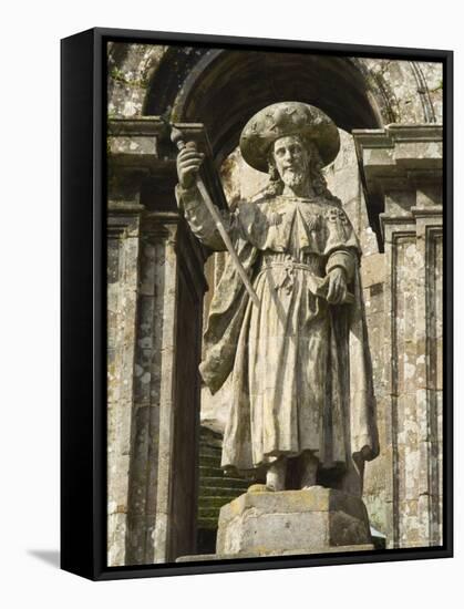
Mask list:
[[[156,125],[109,125],[107,175],[107,564],[126,564],[137,308],[141,194],[156,155]],[[147,133],[148,132],[148,133]]]

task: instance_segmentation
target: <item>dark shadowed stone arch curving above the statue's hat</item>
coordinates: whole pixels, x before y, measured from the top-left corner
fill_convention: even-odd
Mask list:
[[[178,66],[175,56],[166,61]],[[158,114],[163,105],[164,111],[169,105],[173,122],[203,123],[215,162],[220,165],[236,147],[248,118],[275,102],[313,104],[348,132],[392,122],[394,111],[388,97],[377,81],[365,78],[362,68],[359,61],[347,58],[213,49],[198,59],[181,86],[173,89],[172,99],[163,102],[156,99],[158,79],[169,71],[162,62],[147,92],[144,113]]]

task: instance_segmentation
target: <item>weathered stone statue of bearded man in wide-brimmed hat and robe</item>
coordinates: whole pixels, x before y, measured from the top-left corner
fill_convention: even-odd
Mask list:
[[[221,466],[268,491],[322,484],[361,496],[378,455],[372,372],[359,280],[360,246],[322,167],[340,147],[333,122],[299,102],[258,112],[240,137],[268,187],[223,223],[259,298],[229,259],[215,289],[200,373],[214,393],[231,374]],[[178,154],[176,197],[208,248],[224,239],[196,187],[203,154]],[[230,257],[229,257],[230,258]]]

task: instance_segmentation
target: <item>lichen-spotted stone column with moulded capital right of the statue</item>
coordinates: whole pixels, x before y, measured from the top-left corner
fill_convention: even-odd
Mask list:
[[[383,206],[384,336],[379,416],[385,430],[367,482],[385,507],[388,547],[441,544],[442,127],[354,132],[368,205]],[[375,468],[374,475],[373,469]],[[371,476],[371,479],[370,479]]]

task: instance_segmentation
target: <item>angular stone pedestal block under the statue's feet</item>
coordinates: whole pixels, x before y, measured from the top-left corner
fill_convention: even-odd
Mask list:
[[[316,554],[372,544],[365,506],[333,488],[252,492],[221,507],[218,555]],[[365,549],[365,548],[363,548]]]

